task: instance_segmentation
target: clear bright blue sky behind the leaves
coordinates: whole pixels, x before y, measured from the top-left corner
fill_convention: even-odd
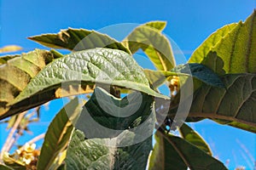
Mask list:
[[[164,32],[172,37],[188,59],[212,31],[226,24],[245,20],[255,7],[253,0],[0,0],[0,46],[17,44],[29,51],[43,47],[26,37],[55,33],[67,27],[98,30],[119,23],[142,24],[150,20],[166,20],[168,24]],[[46,123],[34,124],[31,130],[36,127],[35,133],[44,132],[47,122],[59,110],[61,103],[60,100],[52,102],[49,105],[50,112],[42,115],[42,121]],[[3,143],[6,133],[4,126],[0,126],[0,138]],[[252,168],[250,154],[255,160],[255,134],[233,127],[217,126],[210,121],[196,123],[193,127],[211,145],[214,156],[224,162],[230,160],[230,169],[240,165],[247,169]]]

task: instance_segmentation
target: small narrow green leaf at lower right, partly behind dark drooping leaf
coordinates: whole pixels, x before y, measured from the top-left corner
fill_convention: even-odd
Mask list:
[[[210,150],[207,142],[186,123],[183,123],[183,126],[179,128],[179,132],[183,139],[186,139],[189,143],[194,144],[196,147],[204,150],[208,155],[212,156],[212,151]]]

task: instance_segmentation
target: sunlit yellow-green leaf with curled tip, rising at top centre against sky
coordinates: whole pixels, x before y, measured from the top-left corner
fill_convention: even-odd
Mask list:
[[[151,22],[148,25],[138,26],[128,37],[125,37],[123,43],[131,50],[132,54],[142,48],[158,70],[170,71],[175,65],[171,44],[156,28],[163,29],[162,24]]]

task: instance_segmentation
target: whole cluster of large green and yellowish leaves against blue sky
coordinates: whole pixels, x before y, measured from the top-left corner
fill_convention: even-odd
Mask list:
[[[163,21],[137,26],[122,42],[97,31],[71,28],[29,37],[71,53],[35,49],[1,57],[0,119],[10,116],[9,123],[14,123],[20,112],[52,99],[78,94],[90,98],[82,103],[72,99],[55,115],[37,159],[27,161],[20,152],[5,152],[0,168],[227,169],[186,123],[176,127],[180,136],[170,128],[178,105],[192,99],[185,122],[208,118],[256,132],[255,17],[254,11],[244,23],[212,33],[184,65],[175,63],[172,44],[161,32],[166,27]],[[139,49],[156,70],[137,64],[132,55]],[[181,100],[189,77],[193,97]],[[172,96],[161,94],[164,82]],[[164,118],[160,111],[166,111]],[[142,139],[143,135],[148,138]],[[24,150],[26,156],[35,152]]]

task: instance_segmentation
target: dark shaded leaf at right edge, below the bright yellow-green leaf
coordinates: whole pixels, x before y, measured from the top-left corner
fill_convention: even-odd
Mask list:
[[[222,81],[227,89],[203,85],[195,92],[189,118],[207,117],[256,133],[256,75],[225,75]],[[169,115],[175,114],[175,111],[170,111]]]

